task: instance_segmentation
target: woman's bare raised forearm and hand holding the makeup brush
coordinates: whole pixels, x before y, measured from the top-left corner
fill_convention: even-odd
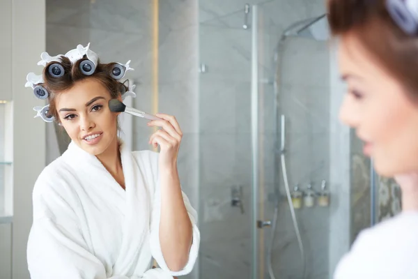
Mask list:
[[[192,222],[183,200],[177,170],[177,154],[182,132],[173,116],[157,114],[163,120],[151,121],[148,126],[160,126],[150,137],[150,144],[160,145],[160,229],[162,255],[171,271],[182,270],[189,260],[193,241]]]

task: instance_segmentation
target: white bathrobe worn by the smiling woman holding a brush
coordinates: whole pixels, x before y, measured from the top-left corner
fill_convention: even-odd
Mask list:
[[[158,153],[122,144],[121,160],[125,190],[74,143],[43,170],[33,189],[31,279],[168,279],[192,271],[200,235],[189,200],[183,194],[193,225],[189,262],[172,272],[159,240]],[[159,269],[150,269],[152,257]]]

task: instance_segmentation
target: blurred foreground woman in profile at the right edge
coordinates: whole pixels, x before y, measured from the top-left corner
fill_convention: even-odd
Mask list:
[[[341,120],[355,128],[378,174],[395,176],[403,212],[362,232],[334,274],[418,278],[418,1],[329,0],[348,84]]]

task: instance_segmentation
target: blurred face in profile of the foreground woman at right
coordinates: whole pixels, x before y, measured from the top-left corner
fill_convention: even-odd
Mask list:
[[[340,119],[355,128],[376,171],[383,176],[417,172],[417,104],[353,34],[341,40],[339,68],[348,84]]]

